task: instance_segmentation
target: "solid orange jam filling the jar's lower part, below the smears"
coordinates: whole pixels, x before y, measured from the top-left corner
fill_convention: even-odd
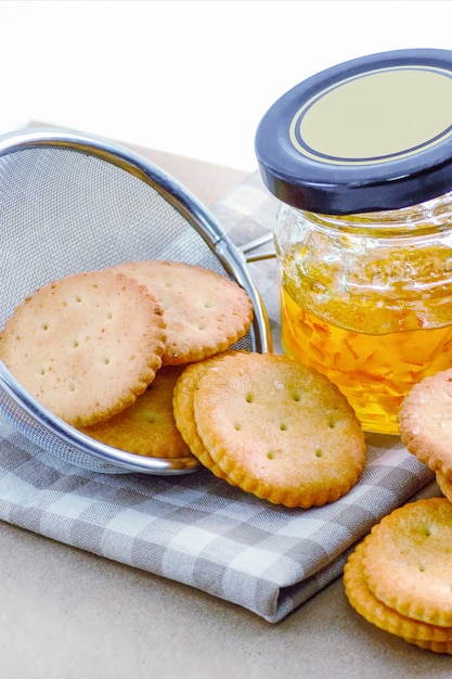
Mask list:
[[[404,394],[452,363],[452,325],[370,335],[308,313],[286,291],[281,307],[284,351],[337,384],[369,432],[397,434]]]

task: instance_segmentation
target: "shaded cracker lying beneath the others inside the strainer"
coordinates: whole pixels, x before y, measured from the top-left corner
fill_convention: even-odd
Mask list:
[[[113,448],[151,458],[190,454],[175,422],[172,392],[182,367],[160,368],[155,379],[128,408],[83,432]]]

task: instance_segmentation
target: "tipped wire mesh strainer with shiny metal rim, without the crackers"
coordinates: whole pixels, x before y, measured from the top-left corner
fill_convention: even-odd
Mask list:
[[[0,137],[0,329],[40,285],[133,259],[198,264],[235,280],[255,319],[236,345],[267,351],[270,333],[240,251],[172,177],[109,141],[55,129]],[[184,474],[198,462],[145,458],[96,441],[56,418],[0,361],[0,414],[22,446],[106,473]]]

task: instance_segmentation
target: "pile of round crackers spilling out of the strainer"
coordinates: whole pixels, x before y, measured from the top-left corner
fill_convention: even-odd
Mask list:
[[[233,350],[253,321],[234,281],[175,261],[68,276],[25,299],[0,357],[56,415],[114,448],[194,456],[286,507],[337,500],[365,444],[330,380],[284,356]]]

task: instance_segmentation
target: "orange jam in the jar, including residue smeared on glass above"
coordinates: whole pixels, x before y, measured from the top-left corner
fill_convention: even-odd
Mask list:
[[[327,375],[364,430],[397,434],[399,406],[412,385],[452,366],[452,249],[430,241],[425,248],[384,248],[354,261],[343,252],[333,259],[321,236],[310,248],[297,243],[285,251],[283,349]]]

